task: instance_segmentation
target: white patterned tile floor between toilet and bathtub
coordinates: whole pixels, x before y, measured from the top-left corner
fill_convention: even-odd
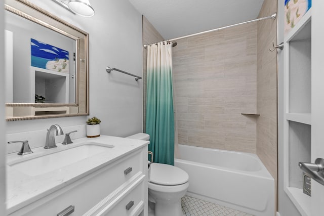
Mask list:
[[[245,212],[227,208],[190,196],[181,199],[182,212],[186,216],[253,216]]]

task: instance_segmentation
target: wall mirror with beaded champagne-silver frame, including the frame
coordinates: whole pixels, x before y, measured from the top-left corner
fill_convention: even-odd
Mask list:
[[[89,34],[25,0],[5,0],[6,119],[89,115]]]

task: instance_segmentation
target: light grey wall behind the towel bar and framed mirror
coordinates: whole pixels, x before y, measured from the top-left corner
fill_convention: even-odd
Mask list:
[[[90,34],[90,116],[102,120],[101,134],[125,137],[141,132],[142,81],[116,71],[110,74],[105,71],[106,66],[111,66],[141,75],[141,15],[127,0],[90,1],[96,12],[91,18],[73,15],[52,1],[30,2]],[[88,117],[7,122],[6,133],[45,129],[54,123],[85,124]]]

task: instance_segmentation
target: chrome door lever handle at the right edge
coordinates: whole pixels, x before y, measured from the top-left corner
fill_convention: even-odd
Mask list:
[[[317,158],[315,163],[299,162],[299,167],[313,180],[324,185],[324,159]]]

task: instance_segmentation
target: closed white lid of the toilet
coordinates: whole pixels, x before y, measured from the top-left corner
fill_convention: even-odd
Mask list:
[[[188,182],[187,172],[163,163],[151,164],[150,182],[159,185],[181,185]]]

